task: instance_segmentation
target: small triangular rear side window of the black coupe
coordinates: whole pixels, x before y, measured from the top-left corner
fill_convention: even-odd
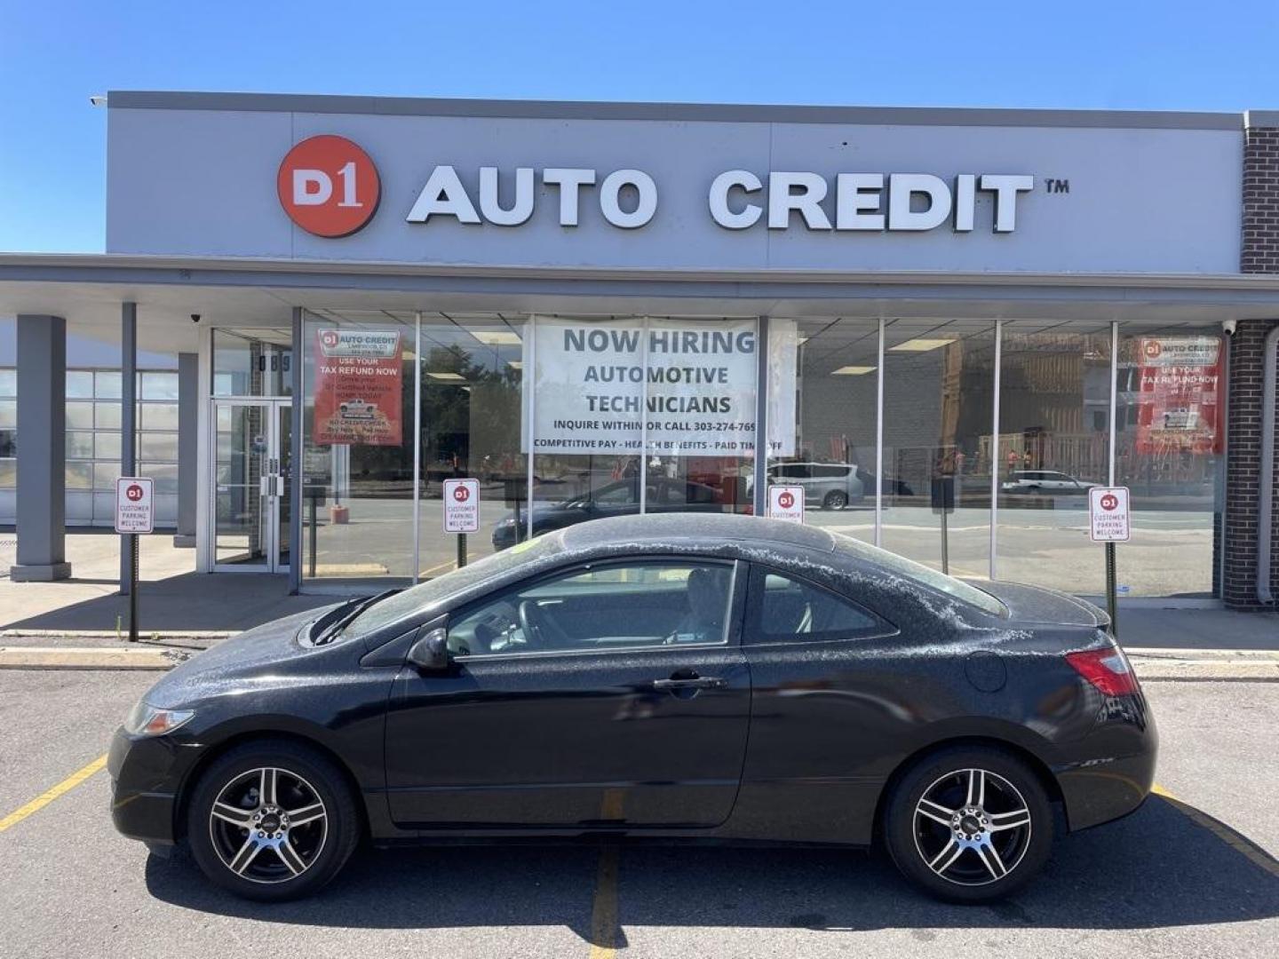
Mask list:
[[[798,577],[756,568],[747,612],[756,642],[847,639],[891,627],[845,596]]]

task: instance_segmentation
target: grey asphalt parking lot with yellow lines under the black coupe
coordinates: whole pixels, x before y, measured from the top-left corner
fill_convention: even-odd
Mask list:
[[[0,956],[1264,956],[1279,937],[1279,683],[1147,684],[1173,798],[1058,840],[993,908],[923,899],[877,855],[689,846],[362,850],[321,896],[266,907],[111,827],[92,765],[153,679],[0,671]]]

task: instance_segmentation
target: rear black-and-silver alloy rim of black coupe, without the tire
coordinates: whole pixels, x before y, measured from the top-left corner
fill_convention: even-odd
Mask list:
[[[989,770],[938,777],[914,807],[914,848],[939,877],[985,886],[1009,876],[1031,843],[1031,811],[1017,786]]]

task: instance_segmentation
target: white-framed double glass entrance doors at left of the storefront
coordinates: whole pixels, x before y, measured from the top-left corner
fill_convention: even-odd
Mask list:
[[[214,425],[214,569],[284,573],[293,408],[289,400],[215,400]]]

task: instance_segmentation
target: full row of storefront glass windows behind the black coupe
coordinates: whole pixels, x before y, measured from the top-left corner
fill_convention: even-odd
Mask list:
[[[404,582],[451,569],[459,543],[443,532],[450,477],[481,483],[468,559],[519,542],[530,449],[535,533],[640,511],[751,511],[756,326],[440,312],[423,312],[418,325],[405,312],[308,313],[303,578]],[[877,532],[890,551],[984,578],[994,486],[999,577],[1102,591],[1086,504],[1110,465],[1108,322],[1003,321],[998,426],[991,320],[769,326],[767,483],[804,488],[806,523],[866,542]],[[1219,339],[1195,327],[1120,329],[1117,482],[1132,487],[1136,510],[1122,595],[1211,595]],[[394,355],[382,355],[388,349]],[[171,412],[156,404],[143,423],[164,425]]]

